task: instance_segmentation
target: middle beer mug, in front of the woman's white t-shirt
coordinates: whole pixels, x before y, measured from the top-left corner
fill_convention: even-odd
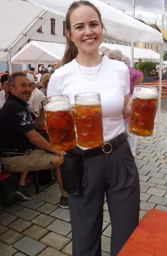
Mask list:
[[[96,147],[103,144],[100,94],[76,94],[75,116],[78,145],[82,147]]]

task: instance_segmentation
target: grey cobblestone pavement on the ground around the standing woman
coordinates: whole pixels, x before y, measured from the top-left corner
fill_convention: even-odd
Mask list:
[[[135,162],[140,174],[140,220],[152,208],[167,210],[167,99],[162,100],[160,119],[160,155],[156,155],[157,118],[151,137],[138,137]],[[8,181],[7,192],[13,201],[15,183]],[[32,200],[12,202],[4,208],[0,199],[0,255],[72,255],[69,210],[58,206],[57,183],[35,194],[34,182],[27,182]],[[1,196],[1,195],[0,195]],[[111,226],[104,203],[102,255],[110,252]]]

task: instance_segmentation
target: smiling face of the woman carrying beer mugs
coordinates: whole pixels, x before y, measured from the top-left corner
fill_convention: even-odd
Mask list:
[[[78,53],[99,51],[102,41],[102,25],[97,12],[89,6],[81,5],[70,15],[71,31],[68,36],[74,42]]]

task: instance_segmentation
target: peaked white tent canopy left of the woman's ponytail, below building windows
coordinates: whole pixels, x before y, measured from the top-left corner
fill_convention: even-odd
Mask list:
[[[56,59],[62,59],[65,44],[32,40],[24,46],[12,58],[12,63],[48,63],[52,64]]]

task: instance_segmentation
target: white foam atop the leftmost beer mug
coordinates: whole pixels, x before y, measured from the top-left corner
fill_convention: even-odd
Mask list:
[[[70,104],[64,102],[64,100],[49,101],[45,106],[45,111],[64,111],[70,108]]]

